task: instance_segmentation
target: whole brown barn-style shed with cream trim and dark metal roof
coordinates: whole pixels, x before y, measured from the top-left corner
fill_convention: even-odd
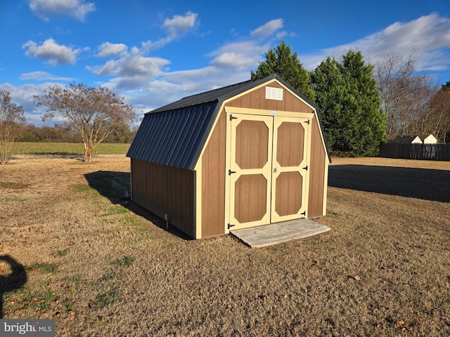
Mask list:
[[[326,213],[318,109],[277,74],[146,113],[127,157],[131,199],[195,239]]]

